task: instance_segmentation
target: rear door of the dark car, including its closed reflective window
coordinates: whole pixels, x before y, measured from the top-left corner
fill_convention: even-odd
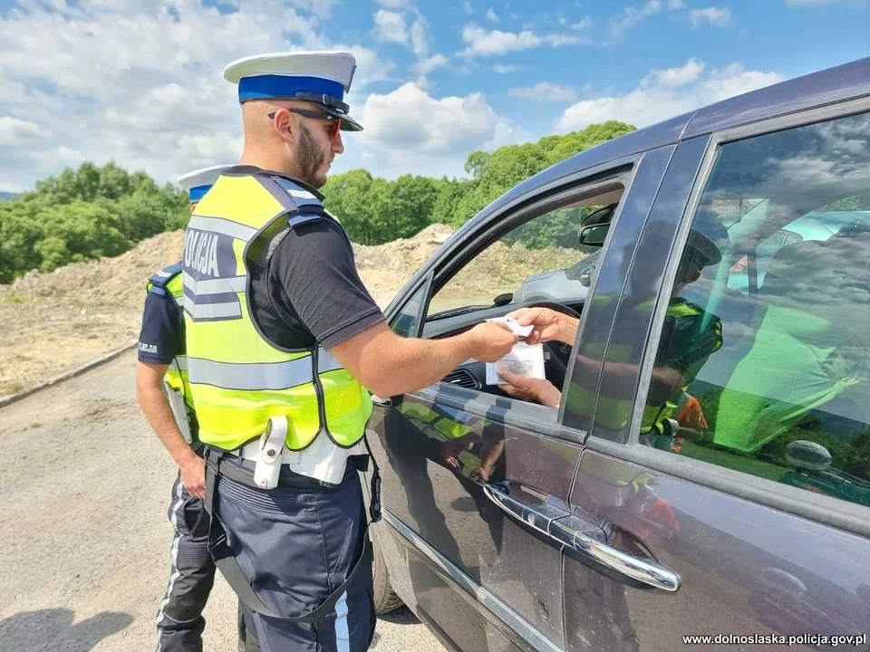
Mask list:
[[[588,433],[565,548],[569,649],[868,648],[870,220],[782,247],[758,293],[729,287],[744,252],[800,216],[870,208],[867,109],[684,141],[636,246],[615,225],[599,285],[613,277],[619,297],[592,309],[615,306],[613,326],[582,329],[565,399],[565,427]],[[731,241],[719,209],[740,197],[771,206]],[[692,263],[711,224],[726,227],[721,260]],[[695,282],[692,264],[708,265]],[[681,300],[685,283],[700,298]],[[745,321],[720,318],[728,300]]]

